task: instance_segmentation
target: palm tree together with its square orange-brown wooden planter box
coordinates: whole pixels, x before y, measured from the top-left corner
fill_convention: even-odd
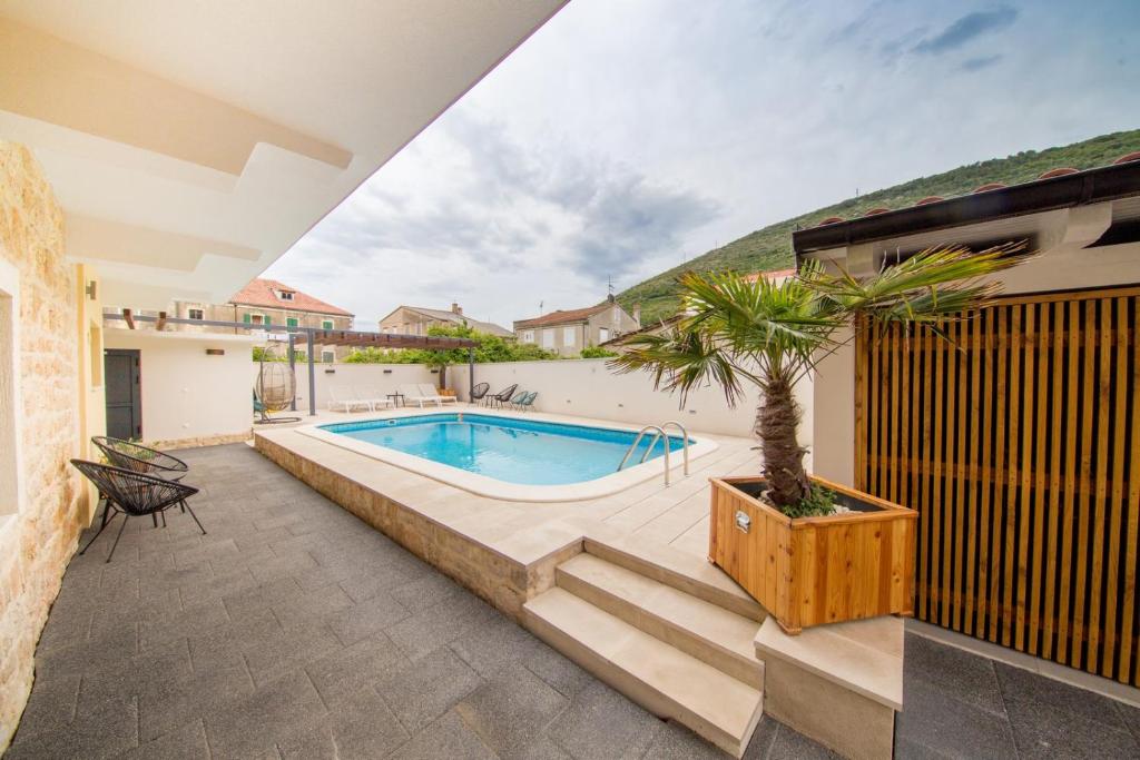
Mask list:
[[[860,330],[903,324],[944,337],[940,326],[984,305],[999,287],[988,276],[1020,263],[1021,251],[923,251],[865,278],[817,263],[780,283],[686,272],[678,278],[685,316],[669,332],[634,336],[609,362],[619,373],[652,373],[656,387],[679,392],[682,404],[708,384],[733,407],[744,384],[759,387],[754,431],[763,466],[757,476],[711,480],[709,559],[787,632],[913,614],[918,518],[807,474],[796,384]]]

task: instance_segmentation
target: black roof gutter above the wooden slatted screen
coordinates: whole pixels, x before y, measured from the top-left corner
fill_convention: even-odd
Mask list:
[[[792,232],[797,265],[817,251],[1140,195],[1140,161],[1100,166]]]

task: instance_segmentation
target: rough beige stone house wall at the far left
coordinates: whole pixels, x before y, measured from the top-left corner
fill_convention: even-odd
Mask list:
[[[35,643],[85,509],[74,456],[79,327],[63,211],[31,152],[0,140],[0,261],[19,280],[22,504],[0,515],[0,752],[32,688]]]

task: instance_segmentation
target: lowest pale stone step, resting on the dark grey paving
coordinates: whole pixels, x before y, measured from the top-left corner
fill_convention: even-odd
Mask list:
[[[562,588],[523,605],[539,638],[646,710],[689,727],[739,758],[763,712],[763,694]]]

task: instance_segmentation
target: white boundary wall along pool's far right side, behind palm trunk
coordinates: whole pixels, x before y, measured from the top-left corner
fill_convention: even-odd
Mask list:
[[[654,391],[653,379],[648,373],[614,375],[606,368],[605,361],[564,359],[475,365],[475,382],[490,383],[491,393],[514,383],[520,390],[538,391],[535,408],[542,411],[640,425],[677,419],[694,432],[752,435],[759,400],[757,389],[749,386],[746,399],[731,409],[719,389],[703,387],[690,394],[686,408],[679,410],[678,397]],[[458,391],[461,399],[466,399],[466,365],[449,367],[447,374],[449,385]],[[796,389],[804,410],[799,442],[808,447],[813,427],[812,395],[812,381],[803,381]]]

